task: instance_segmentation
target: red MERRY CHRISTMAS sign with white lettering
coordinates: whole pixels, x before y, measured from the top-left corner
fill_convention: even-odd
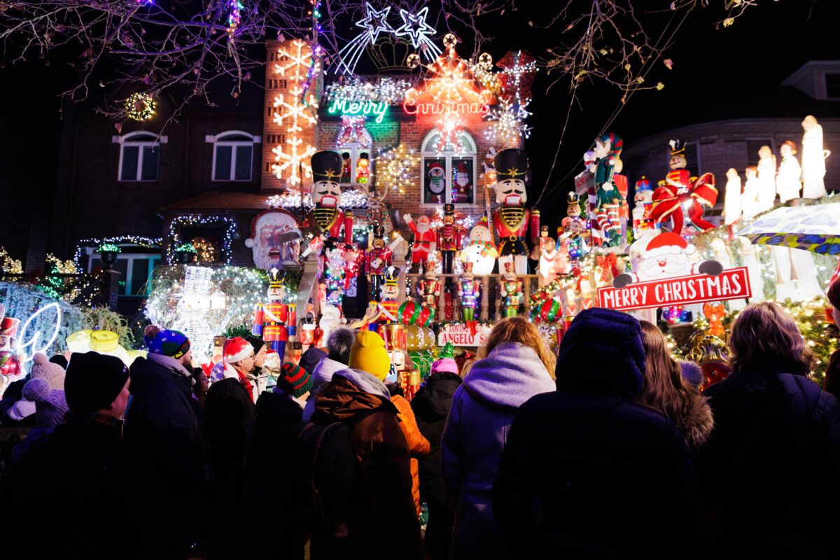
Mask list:
[[[739,300],[752,297],[747,268],[724,270],[720,275],[672,276],[629,284],[622,289],[598,288],[598,306],[617,311],[680,306],[703,301]]]

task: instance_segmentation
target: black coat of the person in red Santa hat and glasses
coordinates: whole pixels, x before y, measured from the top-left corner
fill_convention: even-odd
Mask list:
[[[210,442],[210,466],[217,479],[244,484],[245,428],[254,418],[254,401],[239,379],[210,385],[204,401],[204,422]]]

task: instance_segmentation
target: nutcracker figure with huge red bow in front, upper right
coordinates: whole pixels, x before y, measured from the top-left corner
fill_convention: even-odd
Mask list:
[[[711,223],[702,219],[703,207],[713,207],[717,201],[717,187],[715,175],[704,173],[700,177],[692,177],[685,160],[685,144],[680,140],[671,140],[671,170],[665,175],[664,181],[659,181],[654,191],[653,206],[650,217],[655,223],[674,222],[674,233],[683,233],[683,208],[687,208],[690,226],[698,232],[705,232],[714,228]]]

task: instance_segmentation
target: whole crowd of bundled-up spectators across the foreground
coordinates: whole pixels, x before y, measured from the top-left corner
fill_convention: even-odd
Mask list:
[[[840,280],[828,296],[840,318]],[[34,422],[3,449],[8,557],[832,553],[840,401],[771,302],[738,314],[703,392],[658,327],[600,308],[556,355],[497,322],[411,401],[372,331],[270,371],[263,341],[228,338],[211,379],[181,332],[144,342],[130,369],[36,355],[0,401],[4,427]]]

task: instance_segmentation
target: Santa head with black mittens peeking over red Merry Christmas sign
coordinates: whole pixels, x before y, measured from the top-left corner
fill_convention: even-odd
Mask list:
[[[723,265],[717,260],[693,262],[689,255],[695,251],[694,245],[687,243],[681,235],[671,232],[659,233],[650,239],[641,258],[633,263],[633,272],[617,275],[612,280],[612,285],[621,289],[633,282],[663,280],[671,276],[698,273],[717,276],[723,272]]]

